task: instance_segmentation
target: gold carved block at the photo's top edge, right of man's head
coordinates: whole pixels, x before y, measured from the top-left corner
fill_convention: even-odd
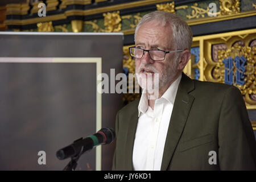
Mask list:
[[[240,0],[220,0],[221,15],[240,13]]]

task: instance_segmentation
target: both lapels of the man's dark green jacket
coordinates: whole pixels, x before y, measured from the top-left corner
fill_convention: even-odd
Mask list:
[[[164,146],[161,170],[167,170],[168,165],[171,162],[172,155],[174,154],[177,143],[179,142],[194,100],[194,97],[188,93],[194,89],[195,82],[182,73],[172,110],[170,125],[166,137],[166,144]],[[129,129],[127,131],[125,143],[125,168],[126,170],[133,170],[133,145],[138,123],[138,107],[134,108],[129,122]]]

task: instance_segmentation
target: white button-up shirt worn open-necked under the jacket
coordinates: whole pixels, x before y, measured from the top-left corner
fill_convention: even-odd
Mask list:
[[[141,96],[133,147],[133,168],[136,171],[159,171],[161,168],[164,144],[180,80],[181,74],[163,96],[155,100],[154,110],[148,106],[147,94]]]

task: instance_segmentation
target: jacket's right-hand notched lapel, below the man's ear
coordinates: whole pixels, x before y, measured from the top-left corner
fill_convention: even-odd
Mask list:
[[[195,89],[194,81],[182,73],[172,109],[170,124],[164,146],[161,170],[167,170],[191,109],[194,97],[188,94]]]

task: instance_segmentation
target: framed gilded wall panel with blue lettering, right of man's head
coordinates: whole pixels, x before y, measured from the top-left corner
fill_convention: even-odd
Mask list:
[[[193,45],[200,47],[200,59],[197,65],[192,65],[192,71],[193,68],[199,68],[201,81],[237,86],[247,109],[256,109],[255,30],[193,38]]]

